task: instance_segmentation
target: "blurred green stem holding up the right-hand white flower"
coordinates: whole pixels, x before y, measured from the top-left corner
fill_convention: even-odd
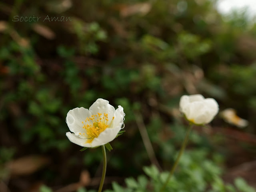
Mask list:
[[[169,175],[168,175],[168,178],[166,179],[166,182],[164,183],[164,185],[162,186],[162,188],[160,189],[159,192],[163,192],[163,191],[164,191],[164,189],[166,188],[166,186],[167,186],[167,184],[168,184],[170,178],[172,177],[172,175],[173,175],[173,173],[174,173],[174,170],[175,170],[176,166],[178,165],[178,162],[179,162],[179,160],[180,160],[180,157],[181,157],[182,153],[184,152],[184,149],[186,148],[186,144],[188,143],[188,136],[189,136],[189,133],[190,133],[192,127],[193,127],[192,124],[188,127],[188,129],[187,129],[187,131],[186,131],[186,136],[185,136],[185,139],[184,139],[184,141],[183,141],[183,143],[182,143],[182,146],[181,146],[181,148],[180,148],[180,152],[179,152],[179,154],[178,154],[178,157],[176,158],[176,160],[175,160],[175,162],[174,162],[174,165],[172,166],[172,169],[170,170],[170,173],[169,173]]]

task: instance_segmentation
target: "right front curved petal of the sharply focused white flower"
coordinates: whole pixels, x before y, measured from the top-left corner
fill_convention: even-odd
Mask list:
[[[124,109],[119,105],[118,109],[116,109],[114,113],[114,120],[112,120],[112,126],[100,133],[100,135],[92,141],[90,147],[100,146],[114,140],[124,123],[123,120]]]

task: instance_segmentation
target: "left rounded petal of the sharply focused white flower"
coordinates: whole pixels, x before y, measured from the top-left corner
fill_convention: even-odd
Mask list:
[[[75,135],[79,135],[79,133],[85,133],[84,129],[82,128],[84,126],[82,122],[85,121],[86,117],[90,117],[91,115],[91,112],[84,107],[76,107],[75,109],[68,111],[66,117],[66,123],[68,124],[68,128]],[[81,137],[85,138],[86,136],[81,135]]]

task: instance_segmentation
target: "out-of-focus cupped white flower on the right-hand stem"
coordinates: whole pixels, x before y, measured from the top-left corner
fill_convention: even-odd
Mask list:
[[[202,95],[183,95],[180,98],[180,111],[186,119],[196,125],[210,123],[219,111],[215,99],[205,99]]]

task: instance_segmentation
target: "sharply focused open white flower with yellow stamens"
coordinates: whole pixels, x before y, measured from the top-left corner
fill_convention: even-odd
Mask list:
[[[107,100],[97,99],[88,109],[84,107],[68,111],[66,123],[71,132],[68,139],[84,147],[96,147],[109,143],[116,138],[124,123],[124,109],[118,109]]]

